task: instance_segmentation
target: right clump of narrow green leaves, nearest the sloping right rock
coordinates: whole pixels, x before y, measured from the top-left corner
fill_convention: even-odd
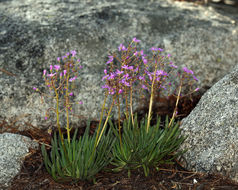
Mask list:
[[[111,128],[113,124],[110,122]],[[140,126],[139,126],[140,125]],[[145,176],[148,176],[151,167],[159,164],[173,164],[173,160],[184,153],[179,151],[174,153],[186,139],[181,136],[179,124],[172,122],[169,127],[168,117],[165,127],[160,127],[160,118],[157,119],[155,126],[150,126],[147,131],[147,116],[140,124],[137,117],[134,125],[131,117],[123,122],[122,141],[120,142],[119,133],[114,129],[118,138],[113,148],[114,160],[111,162],[116,168],[113,171],[130,171],[143,168]]]

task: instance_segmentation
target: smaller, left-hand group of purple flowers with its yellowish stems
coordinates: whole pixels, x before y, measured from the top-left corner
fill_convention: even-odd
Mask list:
[[[57,116],[57,126],[61,134],[60,129],[60,112],[62,111],[60,105],[60,99],[63,99],[63,110],[66,112],[67,126],[65,127],[68,132],[68,140],[70,141],[70,127],[69,127],[69,111],[72,112],[72,103],[70,103],[70,97],[74,96],[74,82],[78,78],[79,70],[82,69],[80,64],[80,59],[75,62],[76,51],[70,51],[66,55],[57,58],[56,65],[50,65],[49,71],[43,70],[43,78],[45,80],[45,85],[54,93],[54,99],[56,100],[56,107],[53,110]],[[33,90],[39,91],[38,88],[34,87]],[[77,104],[82,104],[82,101],[77,102]],[[49,117],[49,108],[45,115],[45,120]],[[61,138],[62,134],[61,134]]]

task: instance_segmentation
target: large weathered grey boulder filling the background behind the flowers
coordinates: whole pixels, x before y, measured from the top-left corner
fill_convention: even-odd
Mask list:
[[[237,21],[235,14],[167,0],[0,1],[0,116],[48,125],[44,113],[52,104],[42,104],[32,88],[43,84],[44,68],[76,50],[84,68],[75,101],[84,103],[75,114],[98,119],[108,51],[133,37],[144,50],[164,48],[178,66],[194,70],[200,87],[211,86],[237,63]]]

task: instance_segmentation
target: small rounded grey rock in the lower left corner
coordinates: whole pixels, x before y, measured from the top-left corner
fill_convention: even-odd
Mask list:
[[[36,149],[38,143],[30,138],[13,134],[0,134],[0,189],[6,189],[19,173],[29,148]]]

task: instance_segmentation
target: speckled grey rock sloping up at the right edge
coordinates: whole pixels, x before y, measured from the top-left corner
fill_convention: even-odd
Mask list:
[[[238,65],[202,96],[181,128],[188,169],[238,181]]]

